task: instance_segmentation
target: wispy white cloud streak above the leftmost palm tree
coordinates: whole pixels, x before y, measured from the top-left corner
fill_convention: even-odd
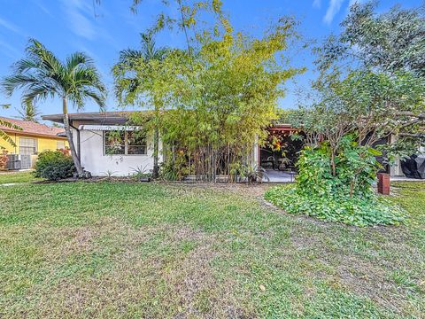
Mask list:
[[[95,37],[96,30],[93,23],[89,19],[89,15],[93,14],[93,8],[88,1],[84,0],[62,0],[64,4],[66,16],[70,24],[70,29],[75,35],[80,35],[89,40]]]

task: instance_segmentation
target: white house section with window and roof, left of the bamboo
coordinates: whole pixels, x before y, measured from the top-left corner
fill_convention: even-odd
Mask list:
[[[126,125],[128,115],[128,112],[69,114],[73,143],[81,166],[91,175],[111,172],[126,176],[134,174],[136,169],[149,172],[153,168],[152,136],[135,134],[138,129]],[[42,119],[57,123],[64,121],[62,114],[45,115]],[[114,140],[111,136],[117,132],[120,132],[120,139]]]

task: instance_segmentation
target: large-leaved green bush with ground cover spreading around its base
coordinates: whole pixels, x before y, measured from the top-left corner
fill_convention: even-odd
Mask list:
[[[397,225],[405,219],[403,211],[372,188],[381,168],[375,159],[378,154],[346,136],[333,155],[332,167],[327,143],[305,147],[297,163],[297,183],[274,187],[265,197],[290,214],[356,226]]]

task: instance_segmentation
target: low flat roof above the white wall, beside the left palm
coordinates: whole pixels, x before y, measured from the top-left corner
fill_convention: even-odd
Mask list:
[[[124,124],[128,121],[128,117],[135,111],[120,112],[96,112],[96,113],[68,113],[71,121],[93,121],[102,124]],[[64,122],[63,114],[43,115],[42,120],[54,121],[57,123]]]

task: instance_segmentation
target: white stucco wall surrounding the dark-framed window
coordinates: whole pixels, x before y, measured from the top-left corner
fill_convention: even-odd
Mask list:
[[[80,130],[81,165],[93,176],[106,175],[109,170],[114,176],[135,174],[133,168],[146,167],[146,172],[153,169],[153,143],[150,136],[147,139],[146,155],[104,155],[103,132],[98,130]],[[159,163],[162,144],[159,143]]]

